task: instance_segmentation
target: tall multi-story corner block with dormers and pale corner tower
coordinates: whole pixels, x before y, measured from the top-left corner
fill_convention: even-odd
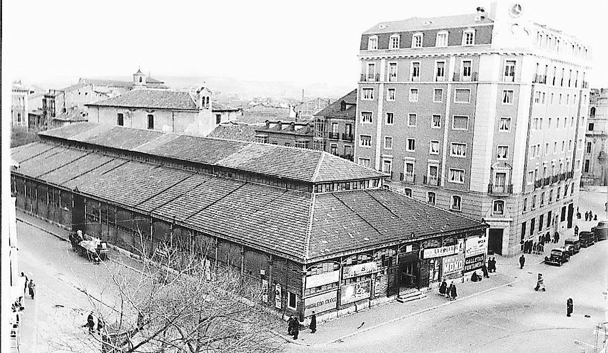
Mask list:
[[[489,248],[572,227],[590,48],[520,4],[382,22],[361,36],[358,163],[491,225]],[[562,236],[563,238],[563,236]]]

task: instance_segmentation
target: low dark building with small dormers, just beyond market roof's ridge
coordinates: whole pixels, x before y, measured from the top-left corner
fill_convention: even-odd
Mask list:
[[[255,129],[255,141],[272,145],[311,148],[314,125],[311,122],[282,122],[266,120],[266,125]]]

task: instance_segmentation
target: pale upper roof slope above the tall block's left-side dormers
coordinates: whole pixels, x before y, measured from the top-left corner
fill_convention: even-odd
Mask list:
[[[480,21],[475,21],[476,18],[477,13],[426,18],[412,17],[402,21],[381,22],[366,30],[363,34],[398,33],[425,29],[447,29],[472,26],[476,24],[491,24],[494,22],[489,19],[487,15]]]

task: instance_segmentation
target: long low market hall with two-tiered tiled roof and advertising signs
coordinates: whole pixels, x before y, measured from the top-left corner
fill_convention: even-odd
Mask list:
[[[283,315],[320,320],[461,279],[487,225],[311,149],[95,123],[12,149],[17,207],[131,252],[227,267]]]

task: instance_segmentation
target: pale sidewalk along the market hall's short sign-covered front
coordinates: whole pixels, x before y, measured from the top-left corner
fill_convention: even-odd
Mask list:
[[[478,273],[481,272],[478,271]],[[471,274],[469,273],[469,276],[470,275]],[[458,290],[458,299],[455,301],[450,301],[444,296],[439,295],[437,290],[432,290],[427,292],[427,296],[420,300],[408,303],[392,301],[360,312],[338,317],[326,321],[325,323],[318,323],[317,332],[315,334],[311,334],[309,329],[302,330],[300,331],[297,341],[292,340],[291,336],[286,334],[287,326],[285,326],[285,332],[279,332],[279,334],[281,334],[286,341],[305,346],[328,344],[334,341],[344,340],[347,337],[360,334],[361,332],[378,329],[385,324],[422,314],[429,310],[468,300],[473,296],[509,286],[516,281],[513,276],[505,275],[500,272],[489,273],[489,276],[490,278],[485,278],[481,282],[473,283],[468,281],[465,283],[455,283]],[[381,331],[379,331],[379,334],[381,334]]]

